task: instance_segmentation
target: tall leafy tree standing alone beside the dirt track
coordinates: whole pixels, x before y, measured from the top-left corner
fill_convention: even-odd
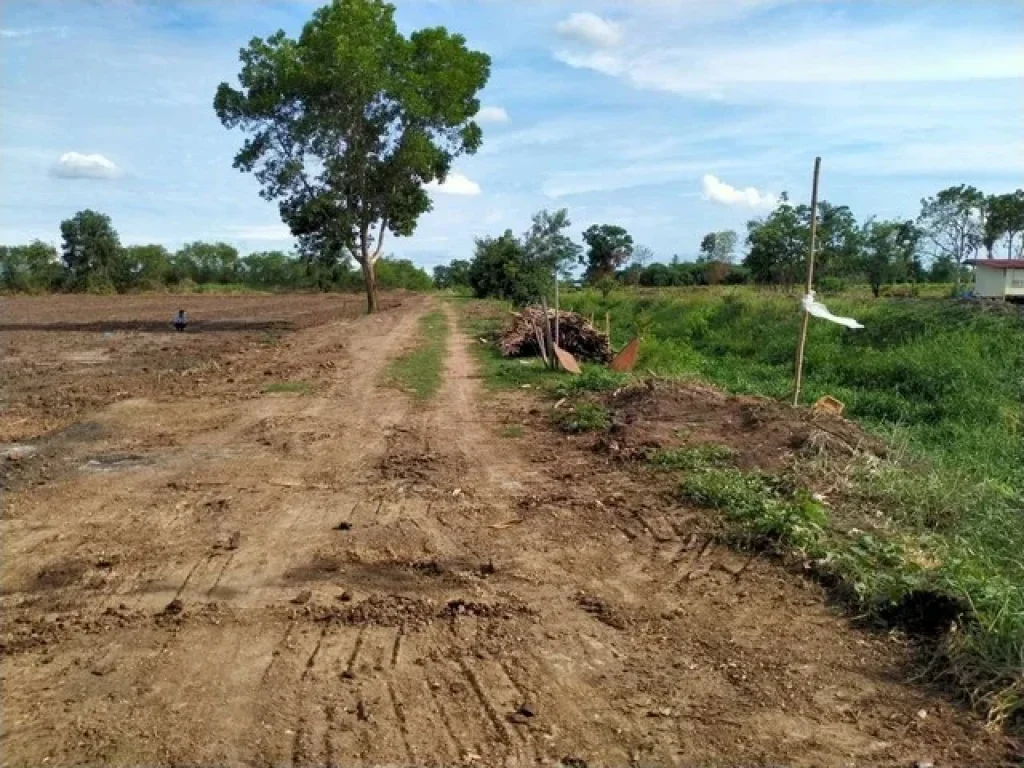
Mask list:
[[[297,40],[254,38],[241,60],[240,87],[221,83],[214,100],[249,134],[234,166],[279,202],[307,257],[358,262],[374,311],[385,232],[412,234],[431,207],[424,185],[480,145],[489,57],[443,27],[404,37],[382,0],[334,0]]]

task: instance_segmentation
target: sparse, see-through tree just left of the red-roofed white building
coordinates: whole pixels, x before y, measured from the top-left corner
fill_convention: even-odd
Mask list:
[[[961,265],[971,258],[984,239],[985,196],[973,186],[959,184],[921,201],[918,226],[931,246],[934,258],[946,256],[956,266],[956,290]]]

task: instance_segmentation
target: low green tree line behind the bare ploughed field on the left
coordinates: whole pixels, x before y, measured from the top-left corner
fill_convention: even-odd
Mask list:
[[[423,291],[430,276],[408,259],[383,257],[381,288]],[[187,290],[199,285],[245,285],[273,290],[358,291],[362,274],[346,260],[301,258],[283,251],[246,256],[227,243],[188,243],[175,252],[161,245],[123,246],[110,216],[85,210],[60,222],[59,250],[34,241],[0,246],[0,290],[127,293]]]

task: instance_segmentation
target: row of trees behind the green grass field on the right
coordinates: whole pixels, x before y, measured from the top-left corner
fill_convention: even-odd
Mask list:
[[[955,283],[965,262],[981,256],[1021,258],[1024,254],[1024,190],[986,196],[973,186],[951,186],[921,202],[915,219],[858,222],[847,206],[822,201],[817,211],[816,284],[839,288],[867,284],[878,296],[892,283]],[[475,295],[516,303],[550,294],[556,271],[604,291],[616,285],[799,285],[807,271],[811,209],[787,196],[769,215],[746,224],[745,253],[732,230],[709,232],[695,260],[678,255],[654,259],[621,226],[601,224],[583,233],[583,245],[566,233],[568,212],[541,211],[529,230],[516,237],[477,239],[471,260],[434,268],[438,288],[464,286]]]

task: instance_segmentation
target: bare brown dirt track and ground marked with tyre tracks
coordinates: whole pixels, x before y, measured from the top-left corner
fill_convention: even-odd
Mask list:
[[[210,341],[188,369],[204,383],[160,358],[152,386],[76,400],[39,439],[26,424],[52,413],[16,380],[4,765],[1006,757],[903,682],[898,637],[852,630],[817,588],[717,546],[642,479],[553,433],[511,436],[537,406],[481,391],[472,340],[453,334],[430,404],[387,387],[436,303]],[[185,343],[143,331],[93,343],[114,358]],[[104,380],[102,360],[85,365]],[[311,391],[260,391],[282,377]]]

